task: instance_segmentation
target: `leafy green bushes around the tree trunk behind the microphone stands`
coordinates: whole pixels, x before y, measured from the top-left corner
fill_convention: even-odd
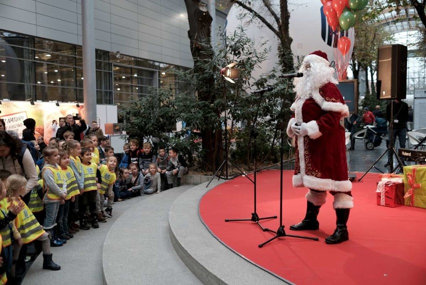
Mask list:
[[[259,133],[257,142],[261,142],[258,143],[258,158],[276,162],[279,155],[274,134],[277,119],[284,116],[281,112],[282,98],[285,98],[287,104],[288,100],[293,99],[283,96],[287,85],[284,81],[277,80],[275,70],[258,78],[252,76],[252,72],[269,53],[265,42],[254,43],[245,34],[243,26],[226,36],[225,42],[226,47],[218,47],[213,55],[204,55],[194,61],[192,69],[169,71],[177,80],[186,83],[185,92],[173,96],[171,90],[153,89],[152,95],[132,98],[128,105],[123,106],[121,115],[125,120],[123,127],[127,134],[141,141],[150,136],[157,137],[166,145],[176,146],[189,162],[196,159],[194,163],[198,162],[198,165],[203,166],[205,155],[217,150],[201,149],[193,130],[200,133],[213,130],[213,134],[220,131],[223,147],[222,130],[226,120],[229,152],[237,162],[249,163],[253,151],[249,133],[255,123]],[[208,49],[204,53],[209,53]],[[235,68],[239,70],[234,84],[224,80],[219,73],[222,67],[231,62],[235,62]],[[206,84],[211,78],[214,79],[213,90],[207,88]],[[263,96],[252,94],[253,90],[264,88],[273,81],[276,82],[273,92],[266,92]],[[285,116],[289,117],[288,114]],[[184,122],[185,129],[168,136],[177,121]],[[189,136],[188,130],[191,130]],[[236,140],[235,150],[230,149],[230,139]]]

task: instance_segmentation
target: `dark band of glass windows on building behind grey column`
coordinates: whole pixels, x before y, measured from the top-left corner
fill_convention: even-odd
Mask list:
[[[96,50],[96,103],[125,104],[150,87],[184,89],[177,66]],[[81,46],[0,30],[0,100],[83,102]],[[181,91],[181,90],[180,90]]]

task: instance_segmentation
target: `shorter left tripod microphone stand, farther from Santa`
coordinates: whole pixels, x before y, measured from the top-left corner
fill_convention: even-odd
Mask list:
[[[257,201],[256,201],[256,199],[257,199],[257,188],[256,188],[256,185],[257,185],[257,181],[256,181],[256,173],[257,173],[257,169],[256,169],[257,147],[256,147],[256,138],[257,138],[258,133],[254,130],[254,125],[255,125],[255,123],[257,121],[257,115],[258,115],[258,112],[259,112],[260,102],[262,100],[262,96],[263,96],[264,92],[267,92],[267,90],[264,90],[264,91],[260,92],[260,98],[258,100],[256,114],[254,115],[253,125],[251,126],[251,130],[250,130],[250,139],[253,138],[253,142],[254,142],[253,143],[253,147],[254,147],[254,151],[253,151],[253,157],[254,157],[253,158],[253,162],[254,162],[254,173],[253,173],[253,175],[254,176],[253,176],[253,179],[254,179],[254,181],[252,181],[249,177],[247,177],[245,175],[245,177],[247,177],[250,181],[253,182],[253,187],[254,187],[254,211],[251,213],[251,218],[249,218],[249,219],[225,219],[225,222],[230,222],[230,221],[252,221],[252,222],[255,222],[262,229],[262,231],[274,232],[271,229],[263,227],[260,224],[259,220],[276,219],[276,216],[259,218],[259,216],[257,215],[257,211],[256,211],[256,205],[257,205]],[[248,143],[248,145],[250,145],[250,143]]]

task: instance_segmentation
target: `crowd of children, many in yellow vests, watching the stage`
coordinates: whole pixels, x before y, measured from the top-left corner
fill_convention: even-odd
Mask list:
[[[36,166],[39,185],[32,189],[28,205],[20,199],[26,179],[0,170],[0,284],[14,277],[13,264],[23,244],[39,241],[43,268],[59,270],[51,246],[62,246],[90,224],[98,228],[98,222],[112,217],[114,202],[179,186],[187,173],[186,161],[174,147],[168,153],[160,147],[155,155],[149,143],[139,149],[138,141],[131,139],[118,162],[104,136],[89,134],[80,142],[72,132],[63,136],[65,141],[52,138],[43,149],[41,167]]]

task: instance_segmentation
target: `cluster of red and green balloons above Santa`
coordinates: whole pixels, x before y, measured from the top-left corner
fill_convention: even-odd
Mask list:
[[[354,27],[361,18],[368,0],[321,0],[327,23],[333,32],[347,31]],[[350,49],[350,39],[340,37],[337,43],[338,50],[346,55]]]

